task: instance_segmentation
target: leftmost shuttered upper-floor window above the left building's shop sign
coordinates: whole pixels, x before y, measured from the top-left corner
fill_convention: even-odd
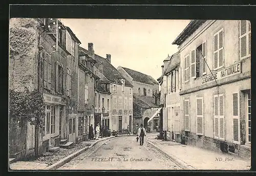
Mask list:
[[[51,63],[51,55],[48,55],[46,52],[41,52],[40,60],[42,60],[41,66],[41,78],[44,79],[44,88],[51,89],[52,85],[52,63]]]

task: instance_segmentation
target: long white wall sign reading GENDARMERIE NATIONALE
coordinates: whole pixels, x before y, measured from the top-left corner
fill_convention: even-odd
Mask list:
[[[214,72],[212,74],[208,74],[205,77],[202,77],[202,84],[206,84],[212,81],[221,80],[226,77],[230,77],[234,74],[241,73],[241,63],[232,65],[228,68],[224,68],[222,70],[219,70],[217,72]]]

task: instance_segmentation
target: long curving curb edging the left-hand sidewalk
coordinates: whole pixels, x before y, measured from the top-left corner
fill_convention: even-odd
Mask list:
[[[132,135],[118,135],[117,137],[119,136],[132,136]],[[96,143],[98,143],[99,141],[104,141],[104,140],[108,140],[108,139],[111,139],[111,138],[114,138],[115,136],[110,136],[110,137],[107,137],[105,139],[101,139],[101,140],[97,140],[95,141],[94,143],[92,143],[89,147],[84,147],[84,148],[81,148],[80,150],[78,150],[77,152],[59,160],[58,162],[44,168],[44,170],[55,170],[59,167],[61,167],[62,165],[68,163],[70,160],[72,160],[73,158],[77,157],[78,155],[80,155],[81,153],[83,153],[84,151],[88,150],[89,148],[93,147]]]

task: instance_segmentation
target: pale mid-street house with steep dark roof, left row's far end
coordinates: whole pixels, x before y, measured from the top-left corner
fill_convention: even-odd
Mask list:
[[[88,50],[79,49],[88,53],[93,44],[88,47]],[[95,124],[99,122],[103,127],[106,125],[111,131],[119,133],[125,133],[127,125],[133,130],[132,84],[111,64],[111,55],[107,54],[106,58],[94,56],[97,61],[94,74],[100,78],[95,87]]]

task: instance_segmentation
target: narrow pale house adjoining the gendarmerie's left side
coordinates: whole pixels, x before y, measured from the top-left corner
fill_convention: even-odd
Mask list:
[[[164,61],[162,76],[158,79],[163,96],[164,105],[163,131],[166,131],[167,140],[181,141],[180,139],[180,95],[181,68],[179,52],[168,56]]]

